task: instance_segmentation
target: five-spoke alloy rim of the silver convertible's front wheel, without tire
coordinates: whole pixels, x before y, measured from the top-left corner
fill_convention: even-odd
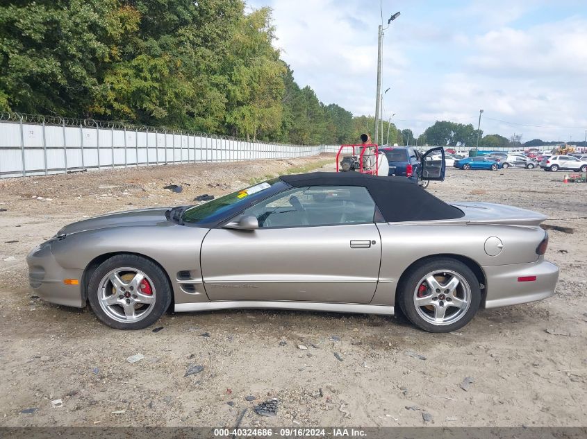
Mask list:
[[[153,310],[156,291],[149,276],[131,267],[115,268],[98,286],[101,309],[117,322],[138,322]]]

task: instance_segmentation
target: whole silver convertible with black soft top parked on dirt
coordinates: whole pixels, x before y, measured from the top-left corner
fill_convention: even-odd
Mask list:
[[[399,177],[287,175],[202,205],[72,223],[28,255],[42,299],[142,329],[175,311],[394,313],[429,332],[554,294],[545,216]]]

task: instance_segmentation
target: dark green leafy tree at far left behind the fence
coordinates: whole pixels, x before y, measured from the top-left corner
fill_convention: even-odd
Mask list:
[[[115,0],[0,6],[1,108],[88,114],[100,66],[116,55],[126,19],[132,21]]]

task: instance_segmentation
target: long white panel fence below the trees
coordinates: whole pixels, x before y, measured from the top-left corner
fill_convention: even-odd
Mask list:
[[[0,178],[198,162],[286,159],[338,146],[251,142],[93,120],[0,114]]]

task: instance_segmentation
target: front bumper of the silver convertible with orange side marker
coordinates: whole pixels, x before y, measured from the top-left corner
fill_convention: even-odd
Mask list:
[[[47,302],[82,308],[81,277],[83,270],[63,268],[51,252],[51,243],[37,246],[26,257],[28,283],[34,293]],[[63,279],[78,279],[78,285],[65,285]]]

